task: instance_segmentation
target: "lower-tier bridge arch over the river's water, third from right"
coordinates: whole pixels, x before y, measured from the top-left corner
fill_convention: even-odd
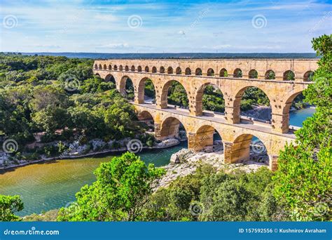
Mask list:
[[[180,125],[184,126],[184,129],[186,130],[186,126],[174,116],[168,116],[165,118],[160,124],[160,140],[167,138],[179,138]],[[186,133],[188,133],[188,131],[186,131]]]

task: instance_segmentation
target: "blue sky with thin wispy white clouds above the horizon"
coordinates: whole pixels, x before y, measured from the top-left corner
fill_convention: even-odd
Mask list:
[[[331,1],[0,0],[1,51],[303,53]]]

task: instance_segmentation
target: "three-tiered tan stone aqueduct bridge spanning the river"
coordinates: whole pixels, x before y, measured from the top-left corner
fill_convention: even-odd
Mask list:
[[[270,168],[275,170],[279,150],[295,138],[289,131],[291,103],[310,84],[308,77],[317,67],[317,60],[308,59],[112,59],[95,60],[93,72],[106,81],[113,76],[121,93],[125,92],[127,79],[132,80],[139,118],[153,118],[156,138],[177,136],[181,123],[186,128],[188,148],[198,151],[213,145],[213,133],[217,131],[223,140],[225,162],[234,163],[249,158],[251,138],[256,136],[264,143]],[[266,79],[271,71],[275,79]],[[295,76],[292,81],[287,81],[289,72]],[[155,87],[155,105],[144,103],[146,79],[151,79]],[[189,109],[167,106],[172,81],[179,81],[186,89]],[[203,91],[209,84],[223,93],[224,115],[202,111]],[[260,88],[268,96],[271,124],[240,119],[240,100],[249,87]]]

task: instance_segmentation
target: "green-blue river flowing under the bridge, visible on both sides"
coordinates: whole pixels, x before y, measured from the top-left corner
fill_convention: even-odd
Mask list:
[[[307,116],[311,116],[314,109],[301,109],[291,112],[290,123],[302,126]],[[167,149],[145,150],[139,153],[141,159],[155,166],[165,166],[170,162],[174,152],[185,148],[187,142],[181,142],[176,147]],[[93,171],[104,161],[109,161],[116,154],[96,156],[82,159],[63,159],[40,164],[32,164],[10,171],[0,171],[0,194],[22,197],[25,204],[18,215],[41,213],[54,208],[66,206],[75,200],[75,193],[83,185],[90,185],[95,181]]]

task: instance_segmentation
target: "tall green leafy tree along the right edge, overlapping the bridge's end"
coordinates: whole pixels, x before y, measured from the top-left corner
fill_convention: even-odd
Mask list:
[[[296,146],[280,153],[274,178],[275,196],[292,220],[331,220],[332,35],[312,44],[321,59],[304,95],[317,110],[296,131]]]

